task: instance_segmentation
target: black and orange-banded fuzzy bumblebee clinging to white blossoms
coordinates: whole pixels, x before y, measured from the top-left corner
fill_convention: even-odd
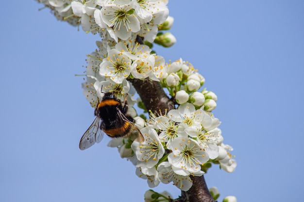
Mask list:
[[[110,137],[129,137],[134,141],[143,142],[143,135],[135,126],[135,120],[127,114],[127,111],[127,97],[124,105],[122,105],[122,102],[114,93],[104,93],[102,100],[97,104],[94,111],[96,118],[82,136],[79,148],[85,150],[95,143],[100,143],[103,132]]]

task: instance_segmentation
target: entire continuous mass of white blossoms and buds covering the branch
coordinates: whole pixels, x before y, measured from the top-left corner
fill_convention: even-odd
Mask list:
[[[134,95],[128,80],[145,78],[160,82],[179,105],[165,115],[150,114],[147,122],[135,117],[135,110],[129,107],[144,142],[120,138],[108,144],[134,163],[136,174],[147,179],[150,187],[172,182],[187,191],[192,186],[190,176],[202,176],[207,162],[234,171],[236,161],[228,152],[232,148],[222,143],[220,121],[210,114],[217,106],[216,94],[205,88],[199,91],[205,79],[191,64],[182,59],[166,64],[152,51],[152,42],[165,47],[175,43],[174,36],[160,33],[173,23],[168,17],[168,0],[38,1],[57,18],[81,24],[85,32],[101,34],[98,50],[88,55],[82,84],[91,106],[96,106],[104,92],[111,91],[120,100],[126,93]],[[132,96],[127,99],[129,106],[136,102]]]

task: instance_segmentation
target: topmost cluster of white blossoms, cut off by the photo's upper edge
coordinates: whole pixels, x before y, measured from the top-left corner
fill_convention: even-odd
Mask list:
[[[118,42],[136,35],[153,42],[169,15],[169,0],[37,0],[51,8],[59,20],[85,32],[101,34]],[[164,34],[166,35],[166,34]],[[164,36],[162,36],[164,37]],[[166,36],[166,37],[171,37]]]

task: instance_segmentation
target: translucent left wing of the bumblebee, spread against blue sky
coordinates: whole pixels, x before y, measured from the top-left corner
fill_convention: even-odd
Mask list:
[[[103,132],[100,129],[101,118],[96,117],[92,125],[85,131],[79,142],[79,149],[85,150],[95,143],[100,143],[103,138]]]

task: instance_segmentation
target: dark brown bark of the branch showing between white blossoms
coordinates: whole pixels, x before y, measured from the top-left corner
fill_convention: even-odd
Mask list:
[[[174,102],[169,99],[158,82],[150,81],[148,78],[144,80],[132,79],[130,82],[134,85],[141,100],[145,104],[147,110],[151,109],[154,114],[162,114],[166,110],[174,109]],[[191,176],[193,185],[188,191],[182,191],[180,198],[172,200],[172,202],[214,202],[204,176]]]

